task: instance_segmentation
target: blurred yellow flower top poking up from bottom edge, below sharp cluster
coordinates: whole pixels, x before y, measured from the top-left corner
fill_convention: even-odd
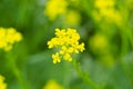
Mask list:
[[[61,85],[59,85],[55,80],[49,80],[47,86],[43,89],[64,89]]]

